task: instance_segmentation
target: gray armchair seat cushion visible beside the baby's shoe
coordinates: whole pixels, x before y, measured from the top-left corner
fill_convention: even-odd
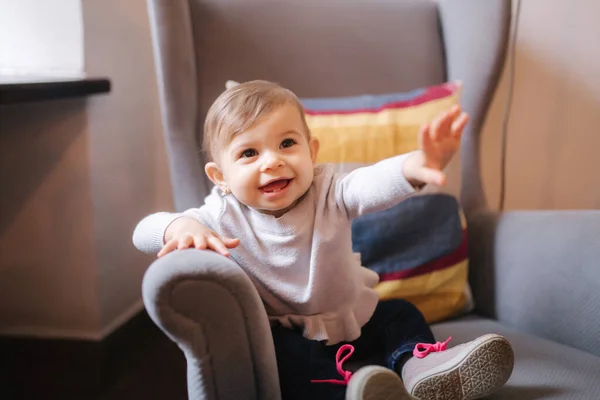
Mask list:
[[[600,357],[472,316],[434,324],[432,330],[440,341],[452,336],[449,347],[486,333],[498,333],[511,342],[513,374],[491,400],[600,399]]]

